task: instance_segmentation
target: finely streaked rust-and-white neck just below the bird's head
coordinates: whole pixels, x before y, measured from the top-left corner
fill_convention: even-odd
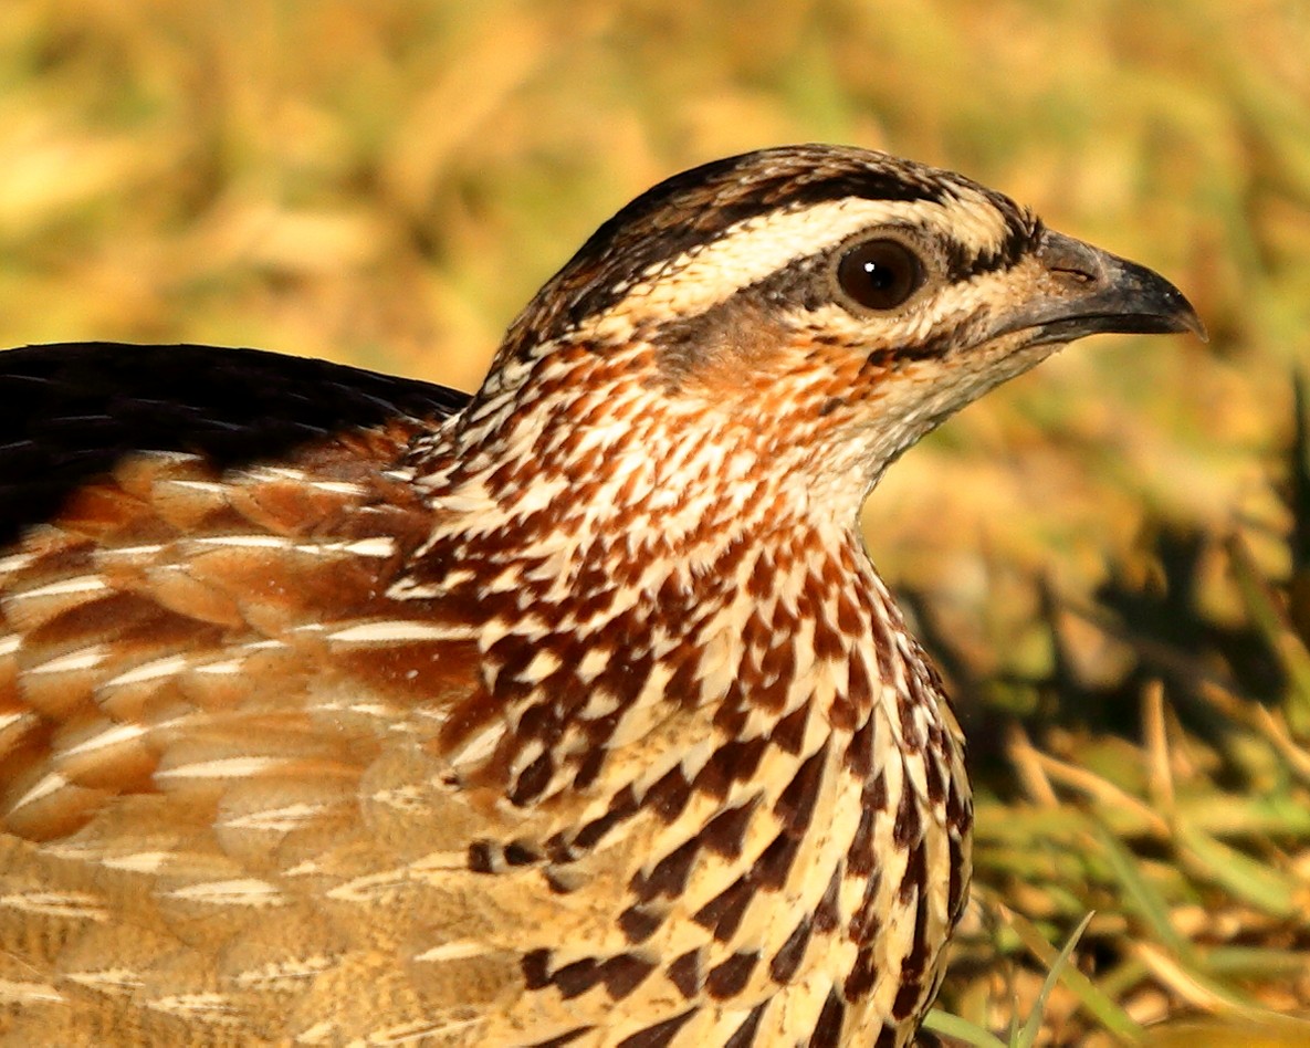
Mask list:
[[[766,536],[858,548],[876,476],[858,449],[810,440],[772,411],[671,393],[651,355],[639,343],[572,345],[499,362],[421,441],[417,485],[438,516],[453,511],[520,549],[552,545],[561,571],[620,541],[629,562],[659,557],[693,572]]]

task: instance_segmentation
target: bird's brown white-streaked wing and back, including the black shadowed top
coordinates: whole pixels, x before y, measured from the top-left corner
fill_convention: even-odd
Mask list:
[[[477,824],[476,791],[435,811],[432,741],[476,641],[386,596],[430,523],[396,464],[460,401],[254,351],[0,354],[0,1035],[434,1010],[339,982],[396,967],[410,863],[464,867]]]

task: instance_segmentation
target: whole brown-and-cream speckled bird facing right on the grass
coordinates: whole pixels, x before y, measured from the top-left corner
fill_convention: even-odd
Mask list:
[[[0,1044],[904,1045],[964,740],[887,466],[1154,271],[854,147],[676,174],[473,394],[0,354]]]

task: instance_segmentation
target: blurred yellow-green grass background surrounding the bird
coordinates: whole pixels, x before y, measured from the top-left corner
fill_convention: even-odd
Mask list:
[[[1307,56],[1303,0],[5,0],[0,343],[472,389],[621,204],[786,141],[962,170],[1150,265],[1208,345],[1079,343],[910,452],[869,542],[973,745],[943,1007],[1052,1044],[1263,1022],[1310,1002]]]

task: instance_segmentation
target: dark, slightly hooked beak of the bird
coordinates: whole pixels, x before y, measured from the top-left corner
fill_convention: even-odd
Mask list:
[[[1024,345],[1072,342],[1104,331],[1167,334],[1205,325],[1192,304],[1158,272],[1081,240],[1047,229],[1038,246],[1039,291],[1000,320],[993,337],[1024,331]]]

